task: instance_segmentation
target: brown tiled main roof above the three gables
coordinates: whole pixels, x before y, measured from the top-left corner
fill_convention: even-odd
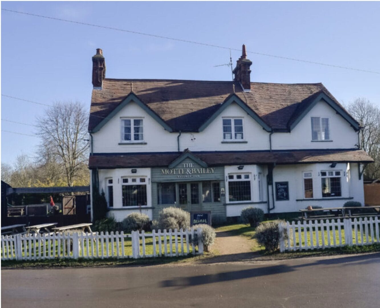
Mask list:
[[[251,91],[243,92],[231,81],[106,78],[101,90],[92,91],[89,130],[133,92],[174,131],[196,132],[233,93],[233,84],[235,94],[272,129],[287,129],[288,122],[304,110],[307,98],[318,92],[340,106],[321,83],[251,83]]]

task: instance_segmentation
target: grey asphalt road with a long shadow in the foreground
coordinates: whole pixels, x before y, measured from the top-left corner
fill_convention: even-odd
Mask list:
[[[379,307],[380,254],[266,263],[2,270],[7,307]]]

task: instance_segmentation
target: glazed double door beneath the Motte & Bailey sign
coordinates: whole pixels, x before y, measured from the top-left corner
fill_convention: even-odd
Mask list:
[[[200,183],[179,183],[178,184],[178,204],[185,211],[196,211],[201,209]]]

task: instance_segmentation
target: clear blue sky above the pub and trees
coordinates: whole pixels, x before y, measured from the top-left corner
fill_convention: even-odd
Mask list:
[[[5,2],[2,9],[380,72],[380,2]],[[1,12],[1,92],[52,104],[91,99],[91,57],[108,78],[231,80],[226,49]],[[233,64],[241,55],[232,51]],[[380,74],[248,54],[251,81],[322,82],[342,103],[380,106]],[[44,107],[2,96],[1,117],[34,124]],[[35,128],[2,121],[2,130]],[[1,134],[1,160],[35,157],[38,138]]]

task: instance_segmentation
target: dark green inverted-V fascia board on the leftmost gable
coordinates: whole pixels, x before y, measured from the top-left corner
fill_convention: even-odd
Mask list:
[[[153,119],[155,119],[165,130],[168,132],[173,132],[173,129],[166,124],[163,119],[160,118],[160,116],[157,115],[152,109],[150,109],[147,105],[145,105],[141,100],[136,96],[135,93],[131,92],[127,95],[126,98],[122,100],[122,102],[117,105],[117,107],[112,110],[108,116],[105,117],[100,123],[98,123],[92,130],[91,133],[98,132],[109,120],[112,119],[120,110],[122,110],[125,106],[127,106],[130,102],[135,102],[137,105],[139,105],[143,110],[147,112]]]

